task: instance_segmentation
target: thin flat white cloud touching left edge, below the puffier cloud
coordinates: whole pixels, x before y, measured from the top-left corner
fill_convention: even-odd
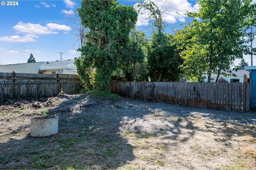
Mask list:
[[[18,42],[36,42],[34,38],[38,38],[36,35],[28,34],[26,36],[20,37],[20,36],[5,36],[0,37],[1,42],[10,42],[10,43],[18,43]]]

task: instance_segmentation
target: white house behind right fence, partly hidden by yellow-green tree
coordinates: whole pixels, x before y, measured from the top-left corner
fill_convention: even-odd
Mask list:
[[[234,70],[231,70],[231,72],[233,74],[235,74],[236,76],[224,76],[224,75],[220,75],[219,76],[219,79],[222,77],[223,79],[225,79],[226,81],[228,82],[244,82],[244,75],[246,75],[247,78],[250,78],[250,73],[249,71],[246,71],[246,70],[237,70],[237,71],[234,71]],[[212,74],[211,75],[211,82],[215,82],[217,79],[217,74]],[[204,79],[205,82],[208,81],[208,77],[206,75],[206,79]],[[245,80],[247,82],[247,80]]]

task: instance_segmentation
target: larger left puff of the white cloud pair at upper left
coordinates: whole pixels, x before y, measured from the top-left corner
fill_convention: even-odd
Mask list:
[[[24,34],[58,34],[58,32],[53,32],[46,26],[41,26],[40,24],[23,23],[18,22],[16,26],[13,27],[18,33]]]

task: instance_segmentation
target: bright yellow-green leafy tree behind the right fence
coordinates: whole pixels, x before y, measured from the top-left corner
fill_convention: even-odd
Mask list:
[[[176,32],[180,55],[184,58],[181,68],[187,76],[228,75],[237,58],[249,53],[248,28],[255,25],[255,4],[251,0],[199,0],[200,12],[188,12],[192,24]],[[218,80],[218,77],[217,79]]]

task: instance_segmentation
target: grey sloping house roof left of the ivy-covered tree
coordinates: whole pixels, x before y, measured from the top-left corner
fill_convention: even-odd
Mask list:
[[[74,59],[61,60],[61,61],[46,61],[40,66],[40,71],[44,70],[58,70],[58,69],[70,69],[76,70]]]

